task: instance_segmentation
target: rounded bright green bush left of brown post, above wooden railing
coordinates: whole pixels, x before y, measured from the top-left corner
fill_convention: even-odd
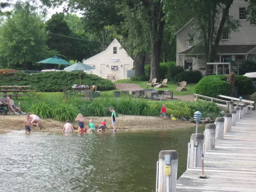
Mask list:
[[[220,80],[218,77],[203,78],[194,87],[195,93],[208,97],[217,95],[230,95],[231,87],[228,82]]]

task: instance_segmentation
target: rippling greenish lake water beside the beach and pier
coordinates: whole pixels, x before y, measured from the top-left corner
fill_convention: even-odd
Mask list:
[[[159,152],[178,151],[180,176],[194,131],[0,134],[0,191],[155,191]]]

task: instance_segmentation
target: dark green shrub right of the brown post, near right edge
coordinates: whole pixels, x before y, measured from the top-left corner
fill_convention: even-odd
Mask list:
[[[235,86],[239,95],[250,95],[255,91],[252,79],[243,75],[235,75]]]

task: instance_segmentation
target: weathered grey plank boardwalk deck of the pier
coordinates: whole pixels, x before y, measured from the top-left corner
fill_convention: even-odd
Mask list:
[[[204,154],[202,168],[189,168],[177,181],[177,192],[256,192],[256,112],[236,122],[231,132]]]

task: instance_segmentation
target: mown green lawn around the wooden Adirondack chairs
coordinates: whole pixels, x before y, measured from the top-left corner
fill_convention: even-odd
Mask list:
[[[147,81],[129,81],[125,79],[117,80],[114,83],[135,83],[142,87],[142,89],[146,88],[148,84]],[[194,86],[196,84],[187,84],[186,89],[187,91],[176,91],[177,85],[174,83],[167,83],[167,87],[157,88],[158,90],[168,90],[172,91],[174,96],[185,96],[185,95],[192,95],[194,94]],[[151,87],[148,87],[150,89]]]

